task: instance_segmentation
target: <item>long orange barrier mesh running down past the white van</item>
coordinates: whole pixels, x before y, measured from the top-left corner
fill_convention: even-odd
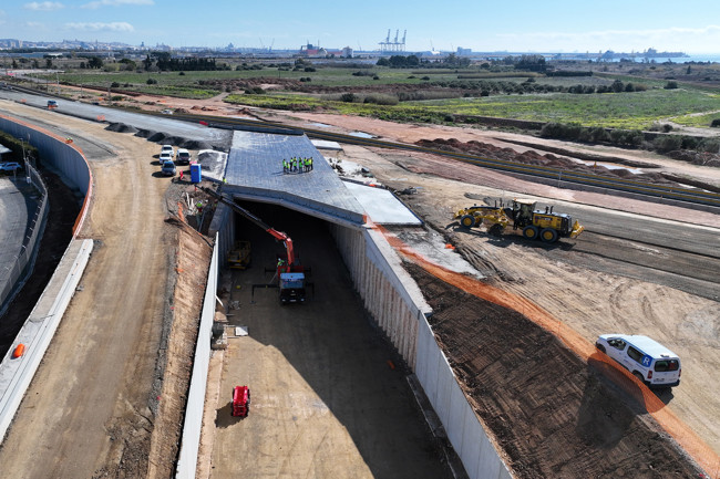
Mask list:
[[[610,360],[606,354],[595,348],[595,344],[580,336],[575,330],[563,323],[551,313],[532,301],[507,291],[491,287],[467,275],[450,271],[429,261],[397,236],[389,233],[381,226],[376,228],[382,232],[388,242],[405,259],[415,263],[433,277],[452,284],[455,288],[476,298],[490,301],[508,310],[523,314],[538,326],[553,333],[568,348],[596,367],[618,386],[630,394],[645,409],[652,415],[657,423],[688,452],[710,478],[720,478],[720,456],[712,450],[688,425],[678,418],[647,386],[632,374]]]

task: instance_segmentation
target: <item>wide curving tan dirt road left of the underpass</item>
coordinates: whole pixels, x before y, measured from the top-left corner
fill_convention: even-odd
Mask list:
[[[53,113],[2,106],[58,123]],[[119,477],[142,477],[166,296],[163,195],[169,179],[156,176],[155,144],[101,124],[65,116],[61,123],[69,136],[104,142],[115,156],[91,162],[95,196],[81,237],[94,239],[95,250],[83,291],[71,302],[3,442],[0,470],[3,477],[78,478],[110,466],[120,467]]]

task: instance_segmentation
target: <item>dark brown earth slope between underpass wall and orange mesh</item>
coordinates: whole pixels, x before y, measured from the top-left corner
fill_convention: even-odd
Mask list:
[[[517,478],[701,477],[639,404],[522,314],[408,263],[438,343]]]

